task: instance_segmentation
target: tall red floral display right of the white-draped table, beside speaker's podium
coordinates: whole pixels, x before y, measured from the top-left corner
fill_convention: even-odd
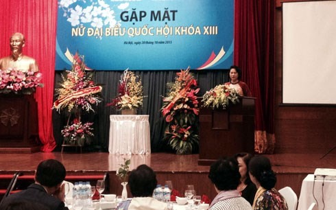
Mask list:
[[[167,122],[164,140],[176,154],[197,152],[198,136],[198,101],[197,81],[189,68],[176,73],[173,84],[167,84],[169,93],[163,99],[162,114]]]

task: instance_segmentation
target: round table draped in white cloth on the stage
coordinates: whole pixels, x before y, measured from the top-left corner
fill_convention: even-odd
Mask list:
[[[149,115],[110,115],[110,154],[150,154]]]

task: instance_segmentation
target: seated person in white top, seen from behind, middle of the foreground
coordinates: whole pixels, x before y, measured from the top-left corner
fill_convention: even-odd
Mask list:
[[[130,172],[128,184],[133,196],[132,200],[121,202],[117,209],[123,210],[164,210],[167,207],[165,202],[152,198],[153,191],[158,180],[152,168],[147,165],[139,165]]]

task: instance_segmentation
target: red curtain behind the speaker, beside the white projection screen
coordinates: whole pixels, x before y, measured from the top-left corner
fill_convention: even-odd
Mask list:
[[[275,1],[235,0],[235,65],[256,97],[254,150],[273,153]]]

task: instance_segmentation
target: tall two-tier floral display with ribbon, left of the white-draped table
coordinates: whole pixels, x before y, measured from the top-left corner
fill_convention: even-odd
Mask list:
[[[82,122],[84,113],[95,112],[94,106],[101,102],[102,87],[93,81],[93,71],[86,71],[83,57],[75,54],[73,66],[70,71],[62,74],[60,88],[56,89],[58,100],[53,108],[65,110],[69,115],[67,126],[61,130],[64,144],[86,145],[91,143],[93,137],[92,122]]]

